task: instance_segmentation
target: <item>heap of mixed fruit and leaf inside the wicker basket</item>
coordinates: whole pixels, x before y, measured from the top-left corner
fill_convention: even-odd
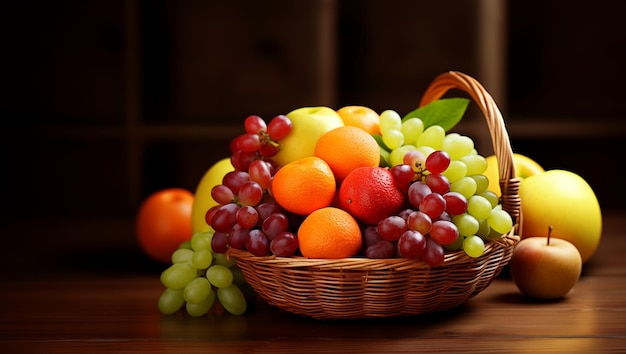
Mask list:
[[[447,132],[467,103],[442,99],[403,118],[362,106],[247,117],[231,143],[234,171],[211,191],[213,250],[431,266],[447,250],[480,256],[513,220],[472,139]]]

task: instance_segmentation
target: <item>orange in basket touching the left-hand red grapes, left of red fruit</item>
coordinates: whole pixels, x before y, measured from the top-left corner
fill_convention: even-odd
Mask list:
[[[272,196],[285,210],[295,214],[307,215],[329,206],[336,192],[333,171],[315,156],[284,165],[272,178]]]

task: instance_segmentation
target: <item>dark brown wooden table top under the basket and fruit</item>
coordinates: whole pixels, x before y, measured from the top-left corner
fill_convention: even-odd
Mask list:
[[[320,321],[263,303],[241,317],[162,316],[160,270],[125,268],[119,263],[132,261],[123,257],[117,266],[102,264],[114,254],[73,262],[65,254],[64,264],[75,267],[22,274],[19,265],[36,262],[25,252],[9,257],[15,269],[2,264],[0,352],[626,352],[624,218],[625,212],[605,213],[600,248],[564,300],[528,301],[505,270],[458,308],[383,320]],[[100,266],[85,266],[89,262]]]

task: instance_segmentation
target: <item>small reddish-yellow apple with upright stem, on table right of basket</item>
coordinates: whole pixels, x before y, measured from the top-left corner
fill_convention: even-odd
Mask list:
[[[513,250],[509,269],[519,290],[532,298],[564,297],[578,282],[582,257],[569,241],[550,237],[521,240]]]

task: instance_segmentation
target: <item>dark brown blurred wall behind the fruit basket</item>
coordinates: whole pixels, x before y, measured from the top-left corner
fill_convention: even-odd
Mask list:
[[[135,247],[141,200],[194,190],[249,114],[348,104],[403,114],[442,72],[482,81],[480,4],[4,4],[2,229],[42,245]],[[513,149],[579,173],[604,210],[623,209],[626,2],[507,4],[504,88],[492,94]],[[468,121],[489,155],[480,117]]]

